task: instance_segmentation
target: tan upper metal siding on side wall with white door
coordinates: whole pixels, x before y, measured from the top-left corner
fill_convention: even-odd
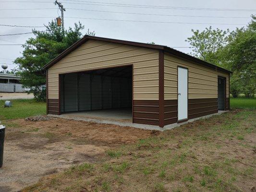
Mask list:
[[[188,68],[188,98],[217,98],[218,75],[227,77],[229,96],[229,74],[183,60],[170,54],[164,55],[164,99],[177,99],[177,66]]]

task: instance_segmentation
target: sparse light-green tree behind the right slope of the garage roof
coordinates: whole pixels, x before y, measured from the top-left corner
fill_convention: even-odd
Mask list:
[[[191,31],[193,36],[185,40],[193,47],[193,52],[190,54],[198,59],[223,67],[221,50],[228,42],[229,30],[212,29],[210,26],[202,32],[194,29]]]

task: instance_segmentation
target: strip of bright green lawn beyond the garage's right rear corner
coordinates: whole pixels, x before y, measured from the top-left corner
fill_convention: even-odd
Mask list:
[[[256,98],[230,97],[231,108],[256,108]]]

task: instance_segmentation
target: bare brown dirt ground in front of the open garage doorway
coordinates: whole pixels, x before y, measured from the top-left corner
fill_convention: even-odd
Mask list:
[[[52,119],[6,122],[0,192],[16,192],[81,162],[101,161],[107,150],[156,132],[85,121]]]

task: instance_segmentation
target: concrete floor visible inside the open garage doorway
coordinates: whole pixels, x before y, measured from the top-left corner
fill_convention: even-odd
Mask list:
[[[101,109],[92,111],[79,111],[79,112],[67,112],[61,114],[61,116],[67,118],[83,117],[89,119],[98,120],[115,120],[121,122],[132,122],[132,108],[114,108],[114,109]]]

